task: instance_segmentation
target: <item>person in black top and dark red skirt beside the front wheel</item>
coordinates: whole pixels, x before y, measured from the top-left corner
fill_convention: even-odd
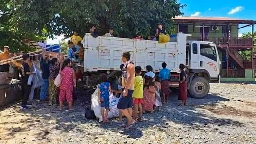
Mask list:
[[[181,100],[181,104],[178,106],[188,105],[187,101],[187,83],[186,83],[186,73],[184,69],[186,66],[184,64],[180,64],[180,84],[179,84],[179,97],[178,100]]]

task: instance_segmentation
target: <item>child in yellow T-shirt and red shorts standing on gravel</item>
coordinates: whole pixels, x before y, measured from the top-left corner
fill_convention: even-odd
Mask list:
[[[140,76],[141,67],[135,67],[135,81],[134,81],[134,92],[132,94],[133,97],[133,119],[137,121],[137,114],[139,108],[139,118],[138,121],[142,121],[142,104],[143,104],[143,78]]]

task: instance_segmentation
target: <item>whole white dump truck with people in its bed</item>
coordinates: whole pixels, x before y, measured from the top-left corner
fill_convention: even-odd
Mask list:
[[[220,78],[220,60],[216,45],[212,42],[187,41],[190,34],[179,33],[168,43],[150,40],[133,40],[117,37],[92,37],[87,33],[83,38],[85,48],[84,71],[90,76],[101,72],[120,71],[124,51],[131,53],[135,65],[145,71],[151,65],[156,73],[167,63],[171,72],[170,88],[179,87],[179,64],[187,66],[187,86],[194,98],[203,98],[209,92],[210,80]]]

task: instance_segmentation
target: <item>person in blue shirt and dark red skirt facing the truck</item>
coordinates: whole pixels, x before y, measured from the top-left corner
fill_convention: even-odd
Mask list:
[[[166,62],[162,63],[162,68],[159,72],[159,79],[161,81],[161,89],[163,93],[163,104],[166,104],[170,91],[169,91],[169,80],[171,77],[170,70],[166,68]]]

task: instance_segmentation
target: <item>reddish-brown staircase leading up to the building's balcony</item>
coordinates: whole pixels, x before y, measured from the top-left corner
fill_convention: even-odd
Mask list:
[[[223,47],[226,51],[226,48]],[[244,69],[244,58],[240,55],[240,53],[235,48],[228,47],[228,55],[231,57],[232,60],[235,61],[234,65],[237,69]]]

